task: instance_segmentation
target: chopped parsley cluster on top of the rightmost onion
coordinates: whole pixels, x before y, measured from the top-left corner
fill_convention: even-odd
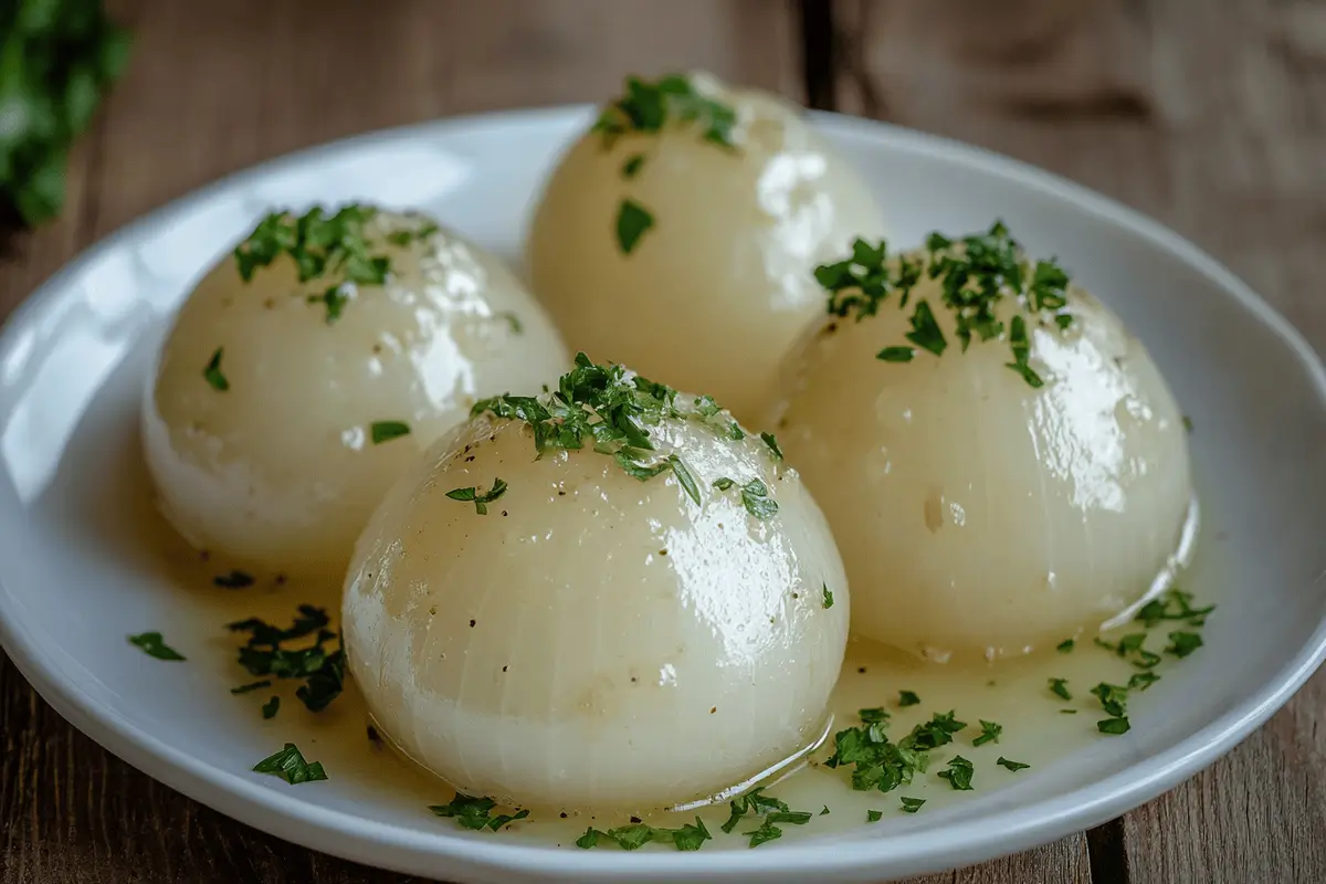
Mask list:
[[[815,281],[829,293],[829,313],[835,317],[855,313],[858,322],[878,314],[890,294],[896,294],[900,310],[906,309],[923,274],[939,280],[940,305],[952,313],[964,353],[973,335],[980,341],[1006,339],[1013,354],[1006,366],[1028,386],[1044,384],[1030,366],[1028,319],[1041,323],[1053,319],[1059,330],[1073,325],[1066,311],[1069,277],[1053,260],[1033,266],[1002,223],[956,241],[932,233],[919,258],[906,254],[890,258],[886,241],[871,245],[857,240],[850,257],[815,268]],[[1005,329],[994,307],[1009,297],[1017,301],[1020,313]],[[876,354],[878,359],[911,362],[916,349],[943,355],[948,341],[924,298],[915,302],[908,321],[911,331],[904,337],[915,347],[888,346]]]

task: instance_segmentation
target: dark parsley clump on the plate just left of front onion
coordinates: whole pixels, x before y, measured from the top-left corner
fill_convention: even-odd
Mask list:
[[[326,611],[301,604],[294,623],[285,630],[257,618],[227,624],[231,632],[247,632],[248,641],[239,651],[239,663],[257,677],[298,679],[304,684],[294,696],[309,709],[321,712],[341,696],[345,687],[345,651],[328,651],[324,645],[338,639],[328,630]],[[290,641],[313,636],[304,648],[286,647]]]

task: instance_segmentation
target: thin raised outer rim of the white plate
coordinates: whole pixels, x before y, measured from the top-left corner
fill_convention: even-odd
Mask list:
[[[0,357],[13,350],[21,330],[66,292],[65,280],[117,249],[123,241],[168,224],[178,213],[206,203],[229,188],[317,160],[322,155],[354,151],[373,140],[408,140],[446,134],[451,129],[504,125],[570,125],[587,117],[591,105],[512,109],[447,117],[406,126],[379,129],[292,151],[231,172],[158,207],[89,245],[37,286],[11,313],[0,330]],[[983,175],[992,175],[1036,191],[1078,211],[1122,228],[1150,247],[1167,252],[1205,277],[1225,297],[1232,297],[1261,322],[1296,357],[1326,410],[1326,366],[1302,334],[1273,306],[1257,296],[1223,264],[1159,221],[1054,172],[992,150],[956,139],[845,114],[810,111],[815,126],[827,134],[871,140],[888,150],[939,156]],[[1313,584],[1322,583],[1318,575]],[[221,770],[207,759],[178,750],[101,704],[76,681],[58,677],[21,620],[21,608],[0,575],[0,645],[19,672],[56,712],[111,754],[151,778],[237,822],[257,826],[281,839],[345,859],[415,875],[461,873],[471,877],[516,873],[552,880],[733,880],[772,875],[777,880],[796,875],[866,880],[880,873],[912,875],[953,868],[993,856],[1008,855],[1048,843],[1103,823],[1151,801],[1195,775],[1233,749],[1270,718],[1311,677],[1326,659],[1326,618],[1293,657],[1266,681],[1204,728],[1175,746],[1134,762],[1127,769],[1054,798],[1037,801],[989,818],[963,820],[945,827],[945,840],[934,843],[927,832],[878,839],[831,842],[835,860],[826,863],[829,843],[817,839],[780,844],[758,854],[747,851],[678,852],[586,852],[568,848],[483,842],[457,838],[447,831],[418,832],[308,803],[260,785],[243,774]],[[936,864],[936,860],[939,863]],[[446,868],[439,868],[446,864]],[[790,880],[790,879],[788,879]]]

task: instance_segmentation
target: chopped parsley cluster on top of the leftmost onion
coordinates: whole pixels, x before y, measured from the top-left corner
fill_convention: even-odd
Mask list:
[[[321,207],[298,217],[285,211],[272,212],[235,248],[240,278],[249,282],[260,268],[289,256],[301,284],[328,284],[306,300],[325,307],[328,323],[335,322],[349,301],[343,286],[383,285],[391,272],[390,258],[375,253],[365,233],[365,225],[377,213],[375,208],[359,204],[343,205],[333,215]],[[387,240],[404,245],[436,231],[438,225],[428,223],[414,231],[394,231]]]

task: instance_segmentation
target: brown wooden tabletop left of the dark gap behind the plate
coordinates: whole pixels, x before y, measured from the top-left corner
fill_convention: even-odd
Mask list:
[[[0,257],[0,315],[93,239],[227,172],[374,127],[597,101],[626,72],[705,68],[800,98],[792,15],[764,0],[111,0],[133,65],[70,205]],[[410,880],[286,844],[139,774],[0,656],[0,884]]]

